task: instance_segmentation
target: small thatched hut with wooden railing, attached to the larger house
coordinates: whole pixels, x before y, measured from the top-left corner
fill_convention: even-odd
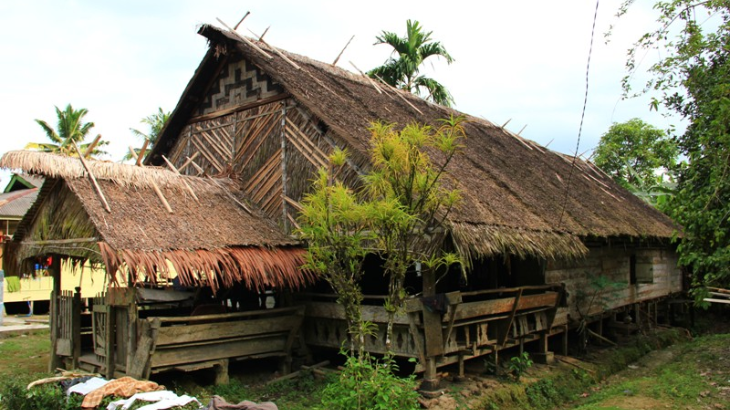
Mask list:
[[[225,382],[229,360],[278,356],[286,370],[303,318],[286,296],[314,278],[232,179],[30,151],[0,166],[45,177],[6,255],[11,272],[50,259],[52,368],[217,367]],[[91,306],[62,292],[62,260],[103,266],[106,292]]]

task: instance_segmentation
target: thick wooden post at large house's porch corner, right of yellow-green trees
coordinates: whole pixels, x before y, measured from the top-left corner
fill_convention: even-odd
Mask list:
[[[432,269],[423,271],[423,296],[436,296],[436,272]],[[441,315],[423,307],[423,332],[426,336],[426,363],[421,390],[435,391],[439,388],[436,371],[436,358],[443,354],[444,335],[441,330]]]

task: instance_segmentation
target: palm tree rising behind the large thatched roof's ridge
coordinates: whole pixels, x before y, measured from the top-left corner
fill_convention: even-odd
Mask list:
[[[423,31],[418,21],[408,20],[406,27],[405,37],[390,31],[383,31],[376,37],[375,45],[387,44],[393,47],[393,53],[368,75],[416,95],[425,91],[427,100],[450,107],[454,102],[451,93],[438,81],[420,75],[419,69],[429,57],[443,57],[448,64],[454,59],[440,42],[431,40],[432,32]]]

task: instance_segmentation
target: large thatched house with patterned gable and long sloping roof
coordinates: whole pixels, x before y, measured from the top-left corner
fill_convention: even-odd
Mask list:
[[[435,124],[460,114],[262,41],[207,25],[199,33],[210,49],[148,162],[193,160],[208,174],[232,172],[239,193],[287,231],[334,147],[352,154],[343,180],[354,182],[368,168],[372,121]],[[449,307],[433,313],[414,299],[393,345],[398,355],[421,359],[427,380],[437,365],[529,341],[545,353],[548,337],[581,316],[601,318],[604,308],[681,290],[669,244],[675,227],[666,216],[590,163],[468,119],[466,151],[448,168],[464,201],[450,214],[446,239],[470,261],[467,278],[455,273],[433,286],[434,278],[424,277],[424,294],[447,294]],[[602,303],[581,306],[599,276],[623,286],[600,295]],[[382,321],[378,277],[366,282],[375,296],[367,299],[366,318]],[[342,312],[331,302],[326,295],[308,302],[310,345],[336,348],[345,337]],[[381,340],[368,343],[382,351]]]

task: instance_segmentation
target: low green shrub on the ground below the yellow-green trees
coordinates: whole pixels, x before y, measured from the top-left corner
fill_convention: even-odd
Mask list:
[[[392,359],[379,361],[365,354],[347,356],[338,380],[330,383],[322,395],[322,407],[328,410],[419,409],[416,379],[401,378]]]

